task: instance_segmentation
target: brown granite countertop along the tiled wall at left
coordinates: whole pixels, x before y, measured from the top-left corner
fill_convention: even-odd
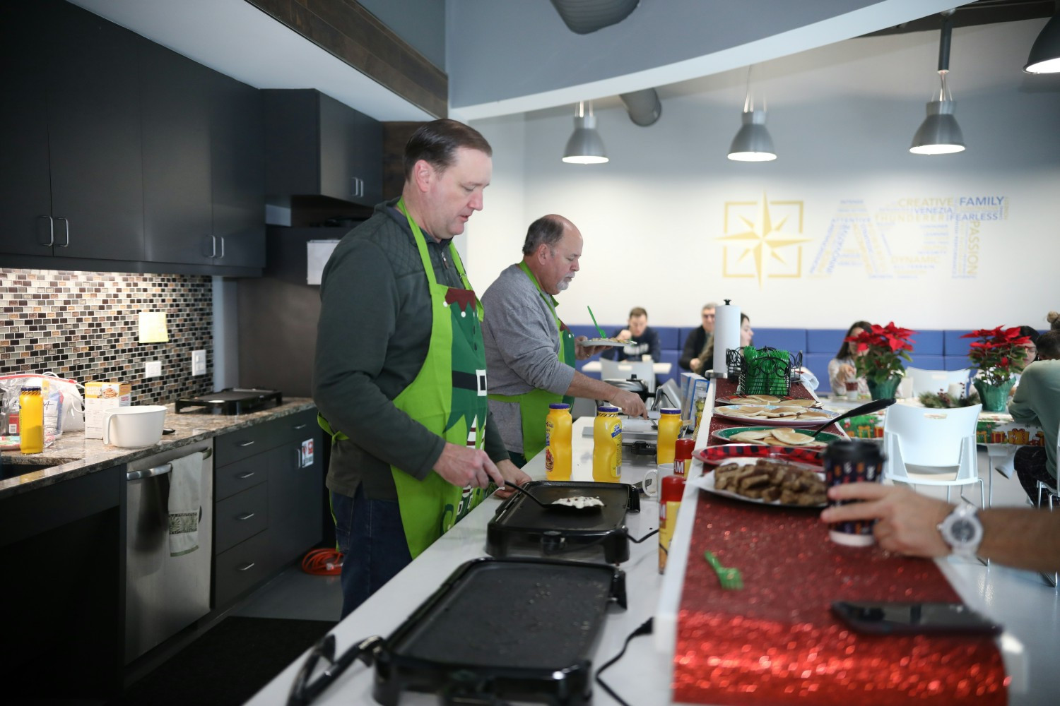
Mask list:
[[[260,424],[313,409],[313,400],[288,397],[283,404],[251,412],[250,414],[222,415],[201,412],[177,414],[173,404],[166,404],[165,427],[175,430],[158,443],[138,449],[123,449],[105,445],[100,439],[86,439],[83,431],[67,432],[42,453],[23,454],[18,451],[2,452],[3,474],[11,476],[18,466],[28,472],[0,479],[0,499],[37,488],[61,483],[94,473],[105,468],[127,464],[156,453],[177,449],[188,443],[202,441],[220,434]],[[47,468],[40,468],[47,466]]]

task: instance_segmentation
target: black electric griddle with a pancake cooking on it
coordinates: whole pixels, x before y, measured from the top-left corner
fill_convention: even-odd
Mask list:
[[[599,496],[598,510],[543,508],[522,493],[497,508],[487,526],[485,551],[493,557],[513,555],[562,556],[599,546],[604,561],[617,564],[630,558],[625,513],[640,511],[640,495],[625,483],[532,481],[535,497],[551,503],[576,495]]]

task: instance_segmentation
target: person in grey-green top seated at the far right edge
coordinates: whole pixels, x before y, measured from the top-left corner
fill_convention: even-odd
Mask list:
[[[1038,339],[1038,360],[1027,365],[1022,383],[1008,403],[1008,413],[1020,423],[1034,424],[1045,434],[1045,447],[1020,447],[1012,467],[1031,503],[1038,502],[1037,482],[1057,487],[1057,429],[1060,428],[1060,330]]]

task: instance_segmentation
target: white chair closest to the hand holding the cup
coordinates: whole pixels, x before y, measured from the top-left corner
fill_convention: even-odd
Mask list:
[[[975,451],[975,422],[982,405],[934,410],[893,404],[883,418],[883,475],[896,483],[950,488],[979,484],[979,505],[986,507]]]

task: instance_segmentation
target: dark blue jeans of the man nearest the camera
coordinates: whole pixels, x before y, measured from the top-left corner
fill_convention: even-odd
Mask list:
[[[335,539],[342,553],[342,617],[412,561],[396,501],[331,493]]]

